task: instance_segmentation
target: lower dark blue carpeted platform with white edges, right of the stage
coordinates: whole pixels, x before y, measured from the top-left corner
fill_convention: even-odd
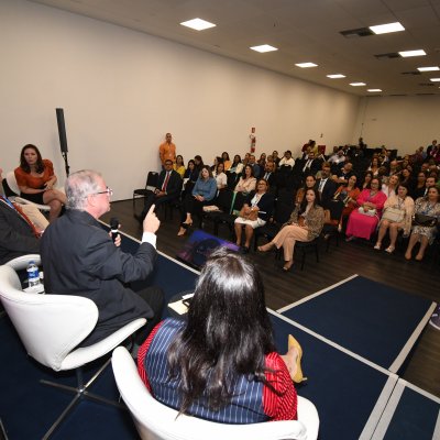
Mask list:
[[[428,299],[355,276],[279,311],[396,373],[433,308]]]

